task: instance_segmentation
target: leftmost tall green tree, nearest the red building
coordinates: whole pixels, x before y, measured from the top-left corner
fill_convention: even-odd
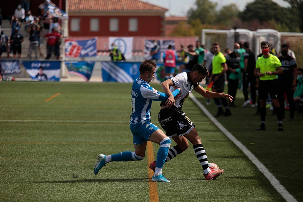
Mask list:
[[[216,8],[217,3],[209,0],[196,0],[195,8],[190,8],[187,13],[188,21],[199,19],[202,24],[213,24],[218,13]]]

